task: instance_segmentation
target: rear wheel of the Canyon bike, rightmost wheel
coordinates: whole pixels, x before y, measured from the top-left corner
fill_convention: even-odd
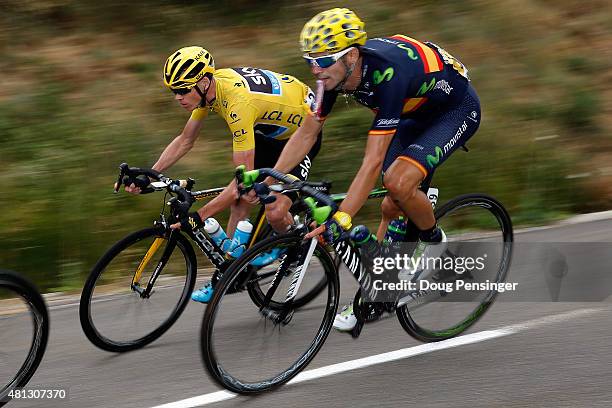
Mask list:
[[[501,203],[484,194],[458,196],[436,211],[436,220],[448,238],[443,260],[454,262],[448,263],[454,269],[434,271],[427,280],[454,288],[459,280],[482,288],[505,281],[512,256],[513,231],[510,216]],[[475,266],[479,257],[482,268]],[[464,264],[469,258],[476,263],[471,268],[458,266],[461,258]],[[486,289],[424,290],[396,313],[402,327],[417,340],[440,341],[457,336],[476,323],[496,295],[496,290]]]

